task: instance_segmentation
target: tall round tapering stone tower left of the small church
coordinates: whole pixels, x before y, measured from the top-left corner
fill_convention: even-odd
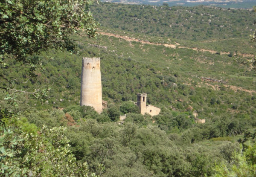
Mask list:
[[[80,105],[93,107],[102,112],[102,85],[100,58],[83,58]]]

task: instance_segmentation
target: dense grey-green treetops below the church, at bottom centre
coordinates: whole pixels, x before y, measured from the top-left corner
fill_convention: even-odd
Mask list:
[[[42,112],[35,112],[28,119],[36,122],[38,117],[35,115]],[[52,126],[64,123],[63,111],[54,110],[48,114],[49,119],[55,122]],[[57,121],[56,115],[63,115],[62,121]],[[37,125],[41,127],[44,123],[38,122]],[[149,116],[135,113],[128,113],[121,125],[116,122],[100,123],[95,119],[79,119],[76,125],[69,126],[68,122],[63,125],[67,127],[66,136],[76,159],[81,163],[87,161],[90,170],[97,173],[101,170],[98,164],[104,165],[105,171],[101,173],[104,177],[211,175],[215,162],[230,159],[231,151],[239,148],[232,143],[220,145],[215,150],[205,149],[195,142],[203,139],[200,133],[207,128],[195,127],[180,135],[168,135],[157,124],[152,124]]]

